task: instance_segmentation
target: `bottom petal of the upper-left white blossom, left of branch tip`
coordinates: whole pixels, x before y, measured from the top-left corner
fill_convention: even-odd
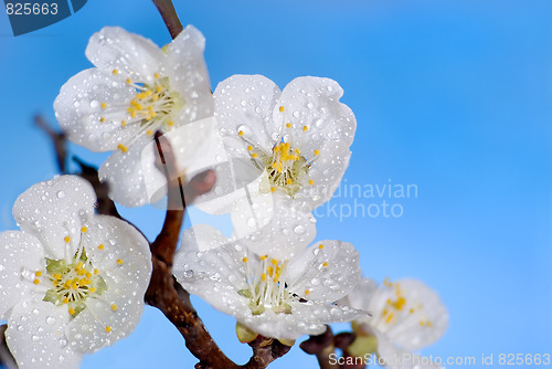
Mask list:
[[[141,207],[150,201],[145,178],[163,187],[162,173],[153,161],[142,161],[142,150],[152,138],[142,135],[127,151],[115,151],[99,168],[99,178],[109,184],[109,197],[125,207]],[[160,181],[160,183],[159,183]]]

